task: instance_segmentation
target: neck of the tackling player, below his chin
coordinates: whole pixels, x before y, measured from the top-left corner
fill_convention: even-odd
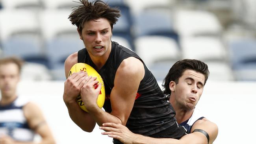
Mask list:
[[[188,120],[192,116],[194,109],[176,108],[175,111],[176,111],[175,117],[177,119],[178,124],[180,124]]]

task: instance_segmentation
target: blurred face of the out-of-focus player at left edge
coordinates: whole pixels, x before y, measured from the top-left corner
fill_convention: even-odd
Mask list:
[[[0,65],[0,90],[2,97],[15,96],[19,82],[19,68],[14,63]]]

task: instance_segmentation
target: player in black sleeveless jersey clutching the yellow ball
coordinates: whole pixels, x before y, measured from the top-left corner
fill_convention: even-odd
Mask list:
[[[80,0],[69,16],[77,26],[85,48],[65,61],[63,100],[70,118],[84,131],[93,131],[95,124],[113,122],[127,126],[132,132],[156,138],[180,138],[186,129],[178,127],[173,107],[141,58],[117,42],[111,41],[113,25],[121,16],[119,9],[97,0]],[[101,84],[85,72],[69,75],[75,63],[87,63],[102,76],[106,90],[104,109],[96,103]],[[76,102],[80,94],[88,113]],[[115,144],[120,143],[113,140]]]

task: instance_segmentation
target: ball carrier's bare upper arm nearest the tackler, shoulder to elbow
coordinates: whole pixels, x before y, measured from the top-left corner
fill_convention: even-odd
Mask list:
[[[117,70],[114,81],[115,86],[110,95],[111,114],[117,116],[123,125],[126,124],[130,116],[143,76],[143,63],[134,57],[124,60]]]

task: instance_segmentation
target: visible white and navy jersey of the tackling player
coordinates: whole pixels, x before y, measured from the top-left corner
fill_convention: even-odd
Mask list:
[[[187,129],[187,133],[191,133],[191,128],[192,128],[193,124],[197,120],[202,120],[203,118],[204,118],[204,116],[202,116],[199,109],[195,108],[192,116],[185,122],[182,122],[180,124],[180,126],[184,126]]]

